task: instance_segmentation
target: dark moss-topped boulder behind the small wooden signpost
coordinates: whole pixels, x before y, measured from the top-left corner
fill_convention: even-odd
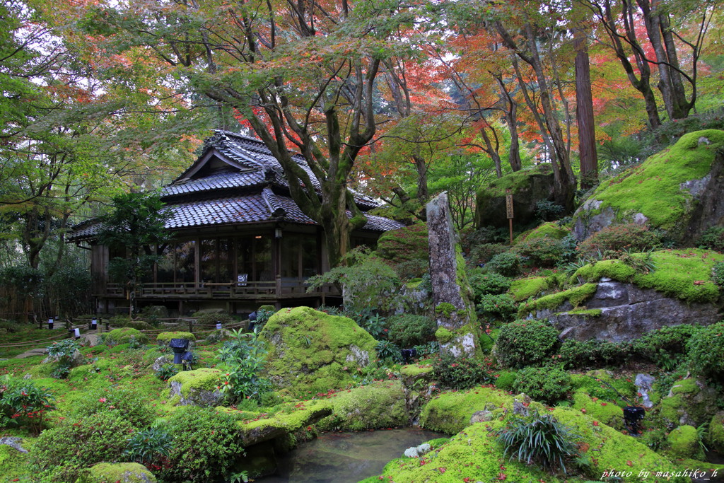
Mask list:
[[[505,196],[513,195],[515,225],[536,221],[536,203],[553,201],[553,170],[550,164],[521,169],[481,186],[476,198],[476,227],[508,228]]]

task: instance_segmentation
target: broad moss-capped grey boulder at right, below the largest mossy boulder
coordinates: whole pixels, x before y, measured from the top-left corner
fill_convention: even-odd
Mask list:
[[[572,280],[588,282],[521,305],[520,316],[548,319],[560,337],[575,340],[634,340],[679,324],[714,324],[721,319],[720,290],[712,266],[724,256],[707,250],[652,254],[653,272],[636,272],[619,260],[578,269]]]

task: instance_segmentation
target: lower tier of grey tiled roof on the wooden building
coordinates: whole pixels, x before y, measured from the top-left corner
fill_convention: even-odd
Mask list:
[[[166,227],[170,230],[274,220],[316,224],[302,213],[292,198],[276,195],[268,188],[258,194],[172,204],[168,209],[173,212],[173,216],[166,223]],[[348,216],[351,216],[349,211]],[[401,227],[403,224],[400,222],[367,215],[367,223],[362,230],[384,232]],[[79,224],[68,240],[89,240],[98,233],[99,229],[98,223]]]

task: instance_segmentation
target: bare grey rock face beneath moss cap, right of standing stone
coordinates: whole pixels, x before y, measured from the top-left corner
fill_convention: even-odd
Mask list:
[[[585,307],[569,302],[535,312],[562,332],[563,339],[634,340],[655,329],[680,324],[714,324],[720,319],[712,303],[686,304],[653,289],[602,278]]]

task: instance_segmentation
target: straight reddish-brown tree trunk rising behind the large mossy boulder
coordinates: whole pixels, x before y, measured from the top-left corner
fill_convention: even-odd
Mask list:
[[[587,42],[588,39],[583,30],[573,30],[573,49],[576,49],[576,122],[578,122],[578,157],[581,159],[582,189],[594,186],[598,178],[596,130]]]

